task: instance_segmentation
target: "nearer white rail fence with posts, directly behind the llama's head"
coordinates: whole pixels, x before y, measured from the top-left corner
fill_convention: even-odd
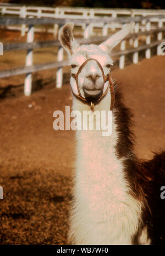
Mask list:
[[[154,20],[154,21],[153,21]],[[90,43],[101,43],[103,40],[106,40],[109,36],[108,25],[112,23],[119,24],[120,27],[125,23],[131,21],[135,22],[135,26],[130,35],[127,36],[120,43],[120,50],[113,52],[112,57],[119,58],[119,68],[123,69],[125,66],[125,57],[128,54],[132,54],[133,63],[138,63],[139,61],[139,52],[145,51],[145,58],[150,58],[151,48],[154,46],[157,47],[157,54],[161,54],[161,43],[165,41],[165,15],[151,15],[146,17],[97,17],[97,18],[86,18],[86,19],[61,19],[61,18],[19,18],[19,17],[0,17],[0,26],[1,25],[26,25],[27,30],[27,40],[26,43],[15,43],[15,44],[4,44],[4,51],[10,50],[21,50],[26,49],[26,61],[24,67],[19,67],[16,69],[9,69],[0,72],[0,79],[3,77],[10,77],[13,75],[26,74],[24,93],[26,96],[31,95],[31,82],[32,82],[32,72],[46,70],[46,69],[57,69],[56,75],[56,86],[62,87],[63,81],[63,67],[68,65],[68,61],[64,60],[63,49],[59,44],[58,40],[52,41],[34,41],[34,28],[35,25],[46,25],[46,24],[57,24],[59,26],[67,23],[74,22],[75,25],[79,23],[84,23],[84,38],[78,39],[81,44],[90,44]],[[94,36],[90,38],[91,24],[100,24],[102,23],[102,36]],[[154,23],[155,27],[152,28]],[[140,29],[142,28],[142,29]],[[113,28],[111,28],[113,30]],[[33,65],[32,53],[36,48],[44,48],[48,46],[58,46],[58,56],[56,62]]]

